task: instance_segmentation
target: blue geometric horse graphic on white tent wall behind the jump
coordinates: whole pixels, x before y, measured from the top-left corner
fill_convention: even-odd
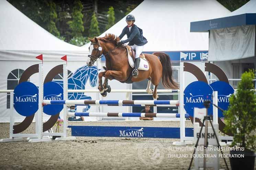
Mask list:
[[[83,66],[75,71],[75,73],[68,78],[68,89],[82,90],[85,89],[87,80],[89,79],[91,87],[97,85],[98,68],[96,66]],[[55,81],[63,87],[63,81]],[[90,96],[84,93],[68,93],[68,100],[91,100]],[[85,106],[83,112],[90,109],[90,106]]]

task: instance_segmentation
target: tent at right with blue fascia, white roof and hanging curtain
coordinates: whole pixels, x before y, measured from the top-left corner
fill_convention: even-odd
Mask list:
[[[191,32],[208,32],[209,60],[226,61],[254,57],[256,0],[214,19],[191,23]]]

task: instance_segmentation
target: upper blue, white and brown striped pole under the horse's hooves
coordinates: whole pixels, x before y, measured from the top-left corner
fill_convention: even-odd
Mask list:
[[[179,100],[43,100],[43,104],[108,106],[179,106]]]

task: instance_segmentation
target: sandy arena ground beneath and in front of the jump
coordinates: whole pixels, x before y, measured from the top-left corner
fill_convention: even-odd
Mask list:
[[[69,125],[179,127],[179,122],[70,122]],[[192,127],[190,121],[186,121],[186,127]],[[24,133],[34,133],[34,131],[35,124],[33,123]],[[0,138],[8,137],[9,123],[0,123]],[[173,141],[178,141],[178,139],[77,137],[76,140],[72,141],[52,141],[45,143],[28,143],[24,139],[24,141],[19,142],[0,143],[0,169],[188,169],[191,160],[190,157],[173,158],[173,156],[179,154],[190,156],[192,151],[175,150],[178,146],[173,146]],[[152,145],[158,145],[160,143],[163,146],[164,150],[161,150],[161,157],[159,159],[149,159],[152,151],[150,151],[150,148],[149,150],[145,150],[145,146],[149,142]],[[186,147],[193,147],[193,145]],[[224,154],[228,153],[229,151],[226,151]],[[168,157],[168,154],[172,155],[172,158]],[[229,159],[226,160],[230,168]],[[148,165],[150,163],[157,164]],[[223,159],[220,159],[220,167],[226,169]]]

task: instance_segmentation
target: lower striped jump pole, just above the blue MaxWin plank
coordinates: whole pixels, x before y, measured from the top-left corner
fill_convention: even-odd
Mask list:
[[[89,116],[89,117],[169,117],[180,118],[178,113],[114,113],[114,112],[68,112],[69,116]],[[185,114],[189,118],[189,114]]]

